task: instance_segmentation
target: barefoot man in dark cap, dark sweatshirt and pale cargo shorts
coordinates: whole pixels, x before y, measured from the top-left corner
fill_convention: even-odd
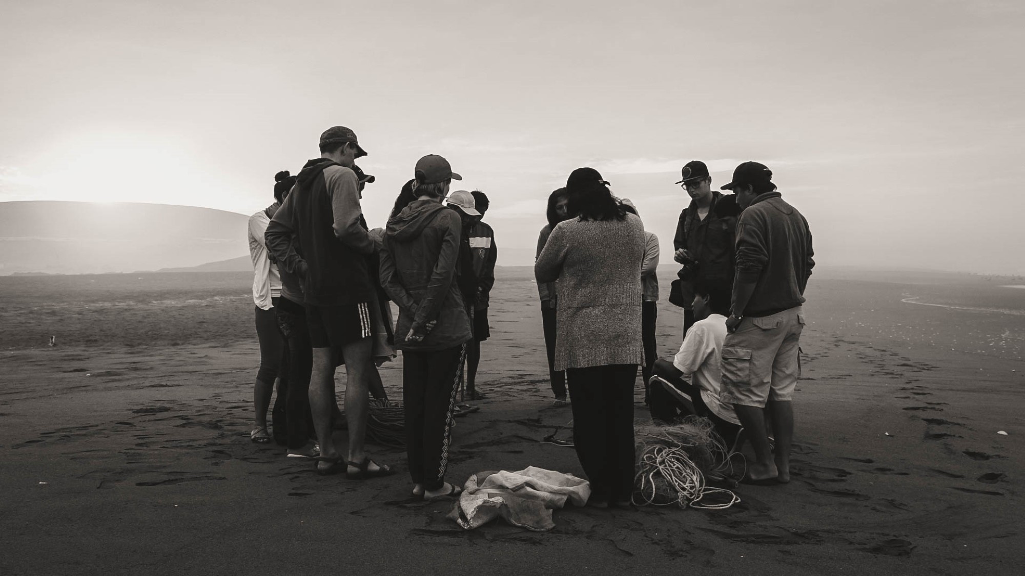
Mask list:
[[[793,388],[801,375],[798,345],[805,327],[801,305],[812,275],[808,221],[783,201],[772,171],[744,162],[723,187],[743,208],[737,223],[737,274],[723,345],[723,402],[733,408],[754,449],[747,484],[790,482]],[[766,411],[772,417],[775,457],[769,448]]]

